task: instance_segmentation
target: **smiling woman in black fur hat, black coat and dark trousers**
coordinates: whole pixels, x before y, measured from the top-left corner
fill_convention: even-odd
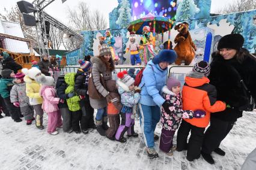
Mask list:
[[[217,89],[217,100],[224,101],[227,108],[211,114],[210,126],[204,135],[201,154],[211,164],[215,163],[211,156],[212,151],[225,155],[219,145],[237,119],[242,117],[242,107],[248,102],[241,78],[256,99],[256,59],[248,50],[242,48],[243,42],[240,34],[225,35],[219,41],[218,51],[212,54],[213,61],[208,78],[210,84]]]

